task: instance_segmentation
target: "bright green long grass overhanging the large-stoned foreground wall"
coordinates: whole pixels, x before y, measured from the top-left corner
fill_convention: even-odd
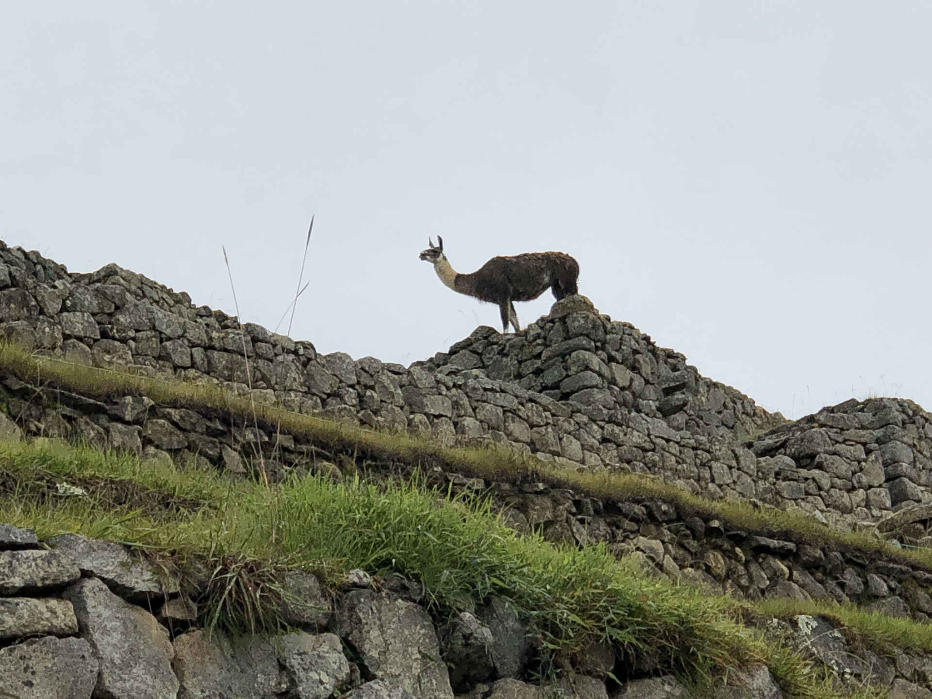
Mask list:
[[[274,629],[287,569],[331,585],[353,568],[400,572],[423,584],[438,619],[492,594],[511,598],[541,631],[544,672],[608,641],[629,660],[651,658],[700,688],[764,662],[788,696],[833,695],[812,667],[742,625],[728,600],[647,577],[602,547],[519,537],[481,501],[314,477],[266,487],[45,440],[0,445],[0,478],[0,519],[42,538],[71,531],[122,541],[166,569],[200,562],[210,577],[205,621],[220,628]],[[106,483],[108,494],[80,494],[79,483]],[[128,494],[124,502],[112,497],[117,491]]]

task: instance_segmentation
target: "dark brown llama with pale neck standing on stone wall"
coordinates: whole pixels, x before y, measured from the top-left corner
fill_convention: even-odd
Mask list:
[[[444,239],[437,236],[440,245],[434,245],[420,254],[420,259],[433,265],[434,271],[448,286],[459,294],[473,296],[480,301],[498,305],[501,311],[502,332],[508,332],[508,323],[514,332],[521,330],[514,301],[532,301],[548,287],[556,300],[577,294],[576,279],[579,263],[566,253],[525,253],[512,257],[493,257],[472,274],[459,274],[444,254]]]

